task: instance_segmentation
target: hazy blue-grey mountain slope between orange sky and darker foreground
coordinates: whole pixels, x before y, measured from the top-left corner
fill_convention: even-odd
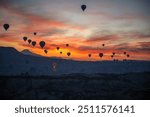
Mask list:
[[[73,61],[24,55],[11,47],[0,47],[0,75],[62,75],[130,73],[150,71],[150,61]]]

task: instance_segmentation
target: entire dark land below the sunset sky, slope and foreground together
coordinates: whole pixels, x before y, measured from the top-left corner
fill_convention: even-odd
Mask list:
[[[85,62],[30,54],[0,47],[0,99],[150,99],[149,61]]]

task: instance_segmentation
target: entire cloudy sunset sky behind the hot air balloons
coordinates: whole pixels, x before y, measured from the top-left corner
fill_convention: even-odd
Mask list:
[[[87,5],[84,12],[82,4]],[[112,60],[115,52],[113,59],[149,61],[149,5],[149,0],[0,0],[0,46],[65,59]],[[5,23],[10,24],[8,31]],[[36,41],[36,46],[24,42],[24,36]],[[46,42],[48,54],[40,41]]]

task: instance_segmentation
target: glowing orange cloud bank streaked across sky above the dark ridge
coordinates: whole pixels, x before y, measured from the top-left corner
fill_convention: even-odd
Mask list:
[[[2,8],[1,8],[2,9]],[[11,45],[19,50],[29,49],[32,52],[37,54],[48,56],[48,57],[62,57],[68,59],[76,59],[76,60],[112,60],[110,55],[112,52],[116,52],[116,59],[122,60],[126,58],[123,55],[124,51],[130,54],[129,59],[136,60],[150,60],[150,42],[126,42],[121,44],[113,43],[114,45],[105,46],[97,48],[97,44],[99,43],[107,43],[112,41],[119,41],[119,34],[109,34],[102,35],[97,37],[91,37],[88,40],[83,37],[69,37],[64,35],[66,30],[78,30],[83,31],[84,28],[80,26],[74,26],[65,22],[58,21],[55,18],[45,18],[33,14],[26,13],[22,10],[14,9],[12,7],[3,8],[7,12],[14,14],[15,18],[22,19],[22,22],[17,24],[18,20],[15,20],[15,23],[12,22],[11,29],[7,32],[2,32],[0,34],[0,45],[5,46],[7,42],[7,46],[11,45],[11,43],[15,43]],[[1,22],[0,24],[2,24]],[[13,24],[17,24],[16,28]],[[34,36],[33,32],[37,31],[38,35]],[[42,33],[41,33],[42,32]],[[55,34],[55,35],[53,35]],[[37,45],[33,47],[31,44],[24,42],[22,40],[23,36],[27,36],[31,40],[37,42]],[[150,38],[149,34],[142,33],[127,33],[122,36],[122,38],[126,37],[134,37],[134,38]],[[46,46],[44,49],[48,49],[48,54],[45,54],[43,49],[39,46],[39,42],[44,40],[46,42]],[[4,43],[5,42],[5,43]],[[69,47],[66,47],[65,44],[69,44]],[[56,47],[59,46],[60,50],[56,50]],[[60,51],[63,52],[60,55]],[[67,52],[71,52],[71,56],[67,56]],[[104,57],[101,59],[99,57],[99,53],[104,53]],[[92,54],[92,57],[89,58],[88,54]]]

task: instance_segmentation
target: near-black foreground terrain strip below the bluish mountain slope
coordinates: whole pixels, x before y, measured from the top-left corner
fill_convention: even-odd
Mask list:
[[[150,72],[0,77],[0,99],[150,99]]]

